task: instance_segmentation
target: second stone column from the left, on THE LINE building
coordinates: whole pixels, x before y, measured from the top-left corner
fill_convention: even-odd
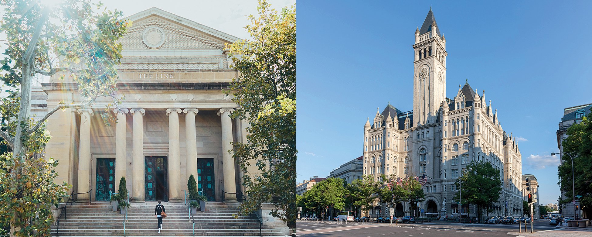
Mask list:
[[[115,187],[111,190],[117,193],[119,190],[119,181],[121,177],[126,177],[127,171],[127,108],[113,110],[117,116],[117,125],[115,127]],[[123,194],[124,196],[127,194]]]

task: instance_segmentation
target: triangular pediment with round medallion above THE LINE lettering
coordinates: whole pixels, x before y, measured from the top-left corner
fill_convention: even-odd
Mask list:
[[[153,7],[130,15],[120,72],[230,69],[224,44],[238,37]]]

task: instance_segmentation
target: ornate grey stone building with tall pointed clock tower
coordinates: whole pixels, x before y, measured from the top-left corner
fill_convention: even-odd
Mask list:
[[[503,193],[490,215],[522,214],[522,155],[512,134],[504,132],[497,110],[466,82],[453,98],[446,92],[446,39],[432,10],[415,31],[413,110],[390,103],[366,121],[363,134],[363,174],[401,178],[427,175],[425,212],[458,217],[456,180],[472,161],[490,162],[500,170]],[[507,206],[506,206],[507,201]],[[384,212],[384,210],[383,210]],[[395,216],[409,214],[398,203]],[[476,216],[475,207],[462,213]]]

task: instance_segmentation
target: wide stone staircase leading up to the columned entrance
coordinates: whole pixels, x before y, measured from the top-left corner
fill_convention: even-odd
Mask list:
[[[156,202],[131,203],[125,223],[126,236],[194,236],[194,223],[188,217],[184,203],[162,203],[167,217],[158,233],[154,216]],[[237,205],[209,202],[205,212],[192,214],[195,236],[260,236],[259,219],[256,216],[232,215]],[[113,212],[109,203],[74,204],[67,207],[67,219],[60,216],[60,236],[124,236],[123,219],[126,215]],[[284,236],[269,226],[261,226],[262,236]],[[57,222],[52,225],[52,235],[57,234]]]

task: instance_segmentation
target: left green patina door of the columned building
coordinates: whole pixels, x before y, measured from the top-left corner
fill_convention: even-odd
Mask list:
[[[96,159],[95,190],[95,201],[110,201],[109,191],[117,192],[115,188],[115,159]]]

